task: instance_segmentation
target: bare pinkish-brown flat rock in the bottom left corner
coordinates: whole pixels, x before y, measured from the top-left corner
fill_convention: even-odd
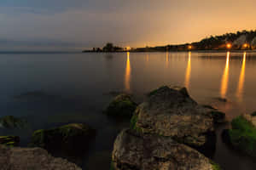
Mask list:
[[[3,145],[0,145],[0,165],[1,170],[82,170],[40,148],[9,148]]]

